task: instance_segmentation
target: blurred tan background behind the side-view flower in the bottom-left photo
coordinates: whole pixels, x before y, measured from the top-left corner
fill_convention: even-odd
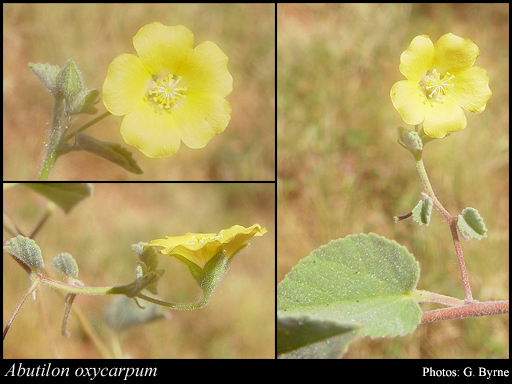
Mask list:
[[[43,215],[47,199],[15,186],[5,191],[4,214],[26,235]],[[275,354],[275,185],[243,184],[94,184],[92,198],[69,214],[57,208],[35,236],[46,262],[46,274],[64,280],[49,263],[58,253],[76,259],[78,278],[89,286],[133,281],[136,256],[131,244],[186,232],[218,232],[232,225],[259,223],[268,229],[235,256],[210,303],[192,311],[166,309],[170,318],[123,331],[120,345],[131,358],[274,358]],[[4,239],[10,234],[4,230]],[[192,302],[201,291],[187,267],[161,256],[166,272],[159,297]],[[3,324],[28,288],[27,274],[4,253]],[[28,299],[3,343],[4,358],[99,358],[99,350],[80,326],[69,320],[69,338],[61,336],[63,295],[41,287]],[[111,330],[103,313],[117,298],[78,296],[75,304],[99,340],[112,351]],[[41,311],[39,305],[44,310]],[[141,301],[141,304],[144,304]]]

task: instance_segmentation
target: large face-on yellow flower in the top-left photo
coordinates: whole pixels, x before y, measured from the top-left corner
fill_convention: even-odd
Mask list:
[[[174,155],[183,141],[202,148],[231,118],[224,99],[233,90],[228,57],[211,41],[194,48],[182,25],[158,22],[133,38],[139,56],[122,54],[110,63],[103,103],[124,116],[121,134],[148,157]]]

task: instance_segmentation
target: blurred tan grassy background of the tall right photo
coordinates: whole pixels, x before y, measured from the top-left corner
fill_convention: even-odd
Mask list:
[[[277,281],[312,250],[352,233],[374,232],[418,259],[418,287],[462,298],[450,231],[433,214],[428,227],[409,212],[422,185],[412,156],[397,143],[406,126],[391,86],[404,79],[401,53],[427,34],[471,39],[493,95],[466,113],[468,127],[424,150],[439,200],[457,215],[475,207],[489,237],[462,244],[473,296],[509,290],[509,5],[279,4]],[[427,307],[424,307],[425,309]],[[508,358],[508,315],[451,320],[396,339],[359,339],[347,358]]]

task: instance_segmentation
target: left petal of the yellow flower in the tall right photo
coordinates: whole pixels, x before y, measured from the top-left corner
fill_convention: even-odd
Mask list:
[[[395,83],[391,87],[391,101],[407,124],[416,125],[424,120],[428,101],[418,82],[401,80]]]

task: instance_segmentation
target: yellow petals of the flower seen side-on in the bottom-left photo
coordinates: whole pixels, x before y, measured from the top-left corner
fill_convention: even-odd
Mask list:
[[[158,253],[176,256],[179,259],[188,260],[200,268],[210,261],[219,252],[225,252],[231,259],[245,242],[254,236],[263,236],[267,232],[259,224],[248,228],[234,225],[229,229],[223,229],[217,233],[187,233],[184,236],[169,237],[151,241],[147,246],[164,247]]]

